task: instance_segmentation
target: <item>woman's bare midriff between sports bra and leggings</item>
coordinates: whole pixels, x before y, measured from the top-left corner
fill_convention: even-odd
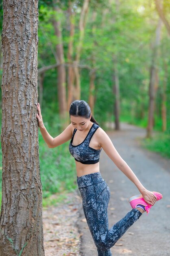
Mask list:
[[[81,164],[80,162],[76,162],[76,170],[77,176],[81,177],[83,175],[87,175],[90,173],[97,173],[100,171],[99,169],[99,162],[96,164]]]

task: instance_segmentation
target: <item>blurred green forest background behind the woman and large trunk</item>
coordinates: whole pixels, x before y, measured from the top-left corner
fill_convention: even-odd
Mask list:
[[[158,2],[170,20],[170,2]],[[142,126],[142,144],[170,157],[170,31],[156,3],[39,0],[39,102],[53,137],[69,121],[72,100],[84,99],[102,128],[114,122],[119,128],[119,121]],[[0,34],[2,9],[1,0]],[[50,195],[62,200],[61,192],[75,189],[75,166],[68,143],[50,149],[40,132],[39,157],[45,206],[56,201]]]

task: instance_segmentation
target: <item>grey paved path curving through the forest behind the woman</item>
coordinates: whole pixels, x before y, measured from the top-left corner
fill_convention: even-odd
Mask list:
[[[114,256],[170,256],[170,160],[150,153],[139,146],[137,138],[145,136],[145,130],[123,124],[121,131],[108,132],[114,146],[129,164],[142,184],[150,191],[159,191],[163,199],[155,204],[130,227],[111,251]],[[109,184],[111,199],[108,216],[109,227],[131,210],[127,199],[139,194],[135,185],[113,164],[102,150],[100,172]],[[80,209],[78,226],[82,235],[82,256],[97,256],[83,211]]]

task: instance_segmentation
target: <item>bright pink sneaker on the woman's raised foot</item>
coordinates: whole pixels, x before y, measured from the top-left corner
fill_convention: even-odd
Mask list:
[[[157,197],[157,201],[160,200],[162,198],[161,193],[159,192],[153,192],[154,195],[156,195]],[[129,198],[128,202],[131,204],[131,207],[133,209],[135,209],[137,207],[138,204],[142,204],[145,208],[145,211],[147,212],[147,215],[150,211],[150,208],[152,207],[151,204],[147,204],[144,200],[144,198],[142,198],[142,195],[133,195],[131,198]]]

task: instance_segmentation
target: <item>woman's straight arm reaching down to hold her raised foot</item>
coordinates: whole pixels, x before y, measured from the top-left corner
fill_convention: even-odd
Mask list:
[[[155,195],[152,192],[145,189],[145,187],[138,180],[138,178],[133,173],[133,171],[128,166],[128,164],[126,164],[126,162],[119,155],[118,151],[113,146],[113,143],[111,142],[111,139],[109,138],[109,136],[101,128],[100,128],[100,132],[98,132],[98,140],[100,141],[100,145],[102,146],[103,150],[105,150],[106,154],[110,157],[110,159],[126,175],[126,177],[128,177],[129,180],[131,180],[135,184],[135,186],[137,186],[137,189],[142,194],[144,200],[148,204],[151,204],[151,205],[155,204],[156,202]]]

